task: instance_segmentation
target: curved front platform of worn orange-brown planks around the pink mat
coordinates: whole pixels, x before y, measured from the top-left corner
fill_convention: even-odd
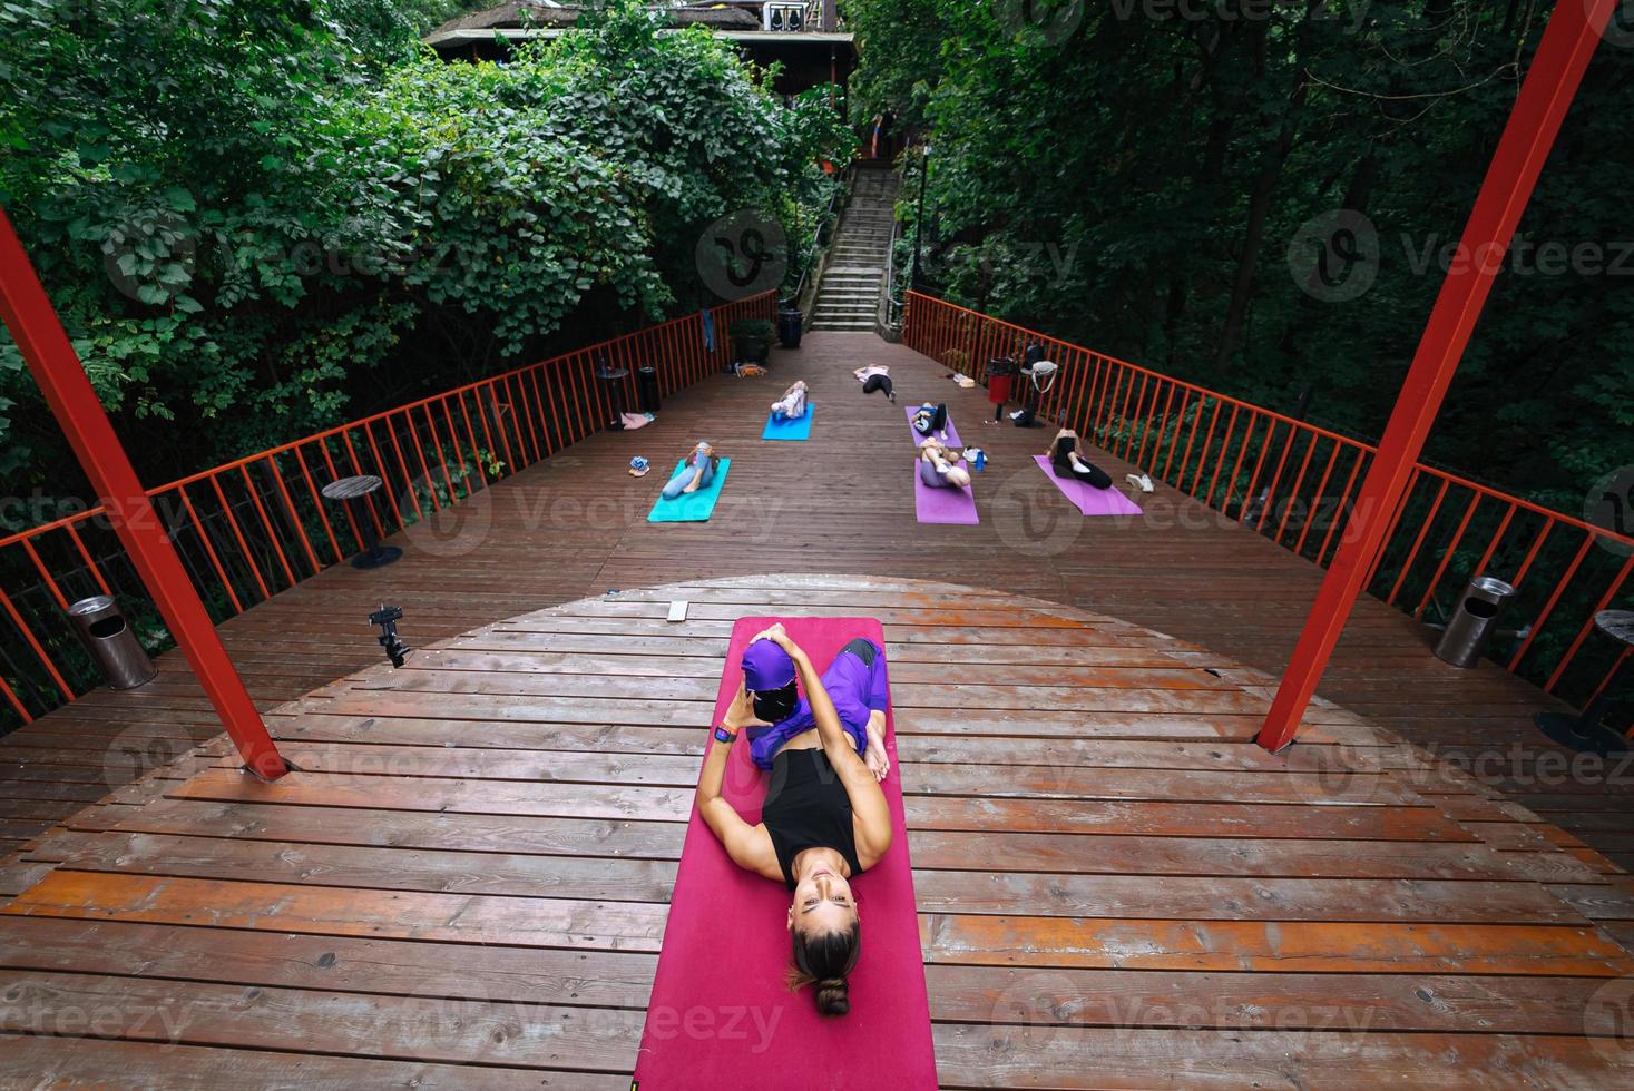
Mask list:
[[[69,818],[0,910],[0,1086],[627,1088],[750,612],[884,622],[944,1086],[1634,1075],[1626,888],[1480,784],[1332,706],[1266,755],[1261,675],[1126,621],[776,575],[475,627],[279,707],[301,773],[214,740]]]

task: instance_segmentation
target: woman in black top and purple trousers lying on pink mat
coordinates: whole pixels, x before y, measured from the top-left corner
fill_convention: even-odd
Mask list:
[[[879,789],[891,771],[886,701],[886,653],[877,643],[851,640],[819,678],[806,652],[773,626],[743,652],[743,684],[714,728],[716,745],[698,777],[698,813],[732,862],[794,892],[789,988],[815,982],[817,1011],[825,1016],[851,1009],[846,975],[856,967],[861,929],[848,880],[891,848],[891,810]],[[753,826],[721,797],[739,732],[747,732],[755,764],[771,769]]]

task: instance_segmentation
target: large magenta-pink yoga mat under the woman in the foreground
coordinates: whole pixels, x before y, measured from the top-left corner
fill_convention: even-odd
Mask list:
[[[732,629],[716,720],[737,694],[748,639],[778,621],[806,648],[819,673],[855,637],[884,647],[884,630],[873,617],[740,617]],[[699,724],[698,730],[708,725]],[[886,751],[891,776],[884,790],[895,836],[886,857],[851,882],[863,928],[861,955],[850,977],[851,1011],[827,1019],[817,1014],[810,986],[788,991],[783,985],[791,962],[788,888],[737,867],[693,810],[641,1035],[634,1091],[936,1086],[891,712]],[[724,795],[745,822],[760,822],[768,776],[750,761],[747,743],[734,743]]]

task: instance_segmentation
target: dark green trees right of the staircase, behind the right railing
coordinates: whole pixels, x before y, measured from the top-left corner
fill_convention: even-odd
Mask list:
[[[1026,7],[848,5],[853,118],[892,109],[933,147],[930,286],[1276,408],[1310,387],[1314,418],[1377,436],[1547,7],[1083,3],[1065,36],[998,18]],[[1634,170],[1631,77],[1634,51],[1598,51],[1521,222],[1598,247],[1601,271],[1498,278],[1428,448],[1567,511],[1634,462],[1634,235],[1606,186]],[[1376,229],[1377,278],[1324,302],[1289,248],[1337,209]]]

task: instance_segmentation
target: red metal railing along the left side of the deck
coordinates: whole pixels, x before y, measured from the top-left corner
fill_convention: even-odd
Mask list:
[[[384,488],[368,505],[392,534],[489,483],[526,469],[611,420],[600,361],[657,369],[672,394],[725,367],[727,328],[773,318],[775,292],[716,307],[712,346],[701,314],[435,394],[147,490],[155,518],[181,554],[216,621],[245,611],[363,549],[358,516],[322,498],[328,482],[373,474]],[[98,505],[0,539],[0,714],[28,724],[96,684],[64,611],[87,594],[119,594],[141,632],[147,594]],[[150,643],[154,643],[150,640]]]

